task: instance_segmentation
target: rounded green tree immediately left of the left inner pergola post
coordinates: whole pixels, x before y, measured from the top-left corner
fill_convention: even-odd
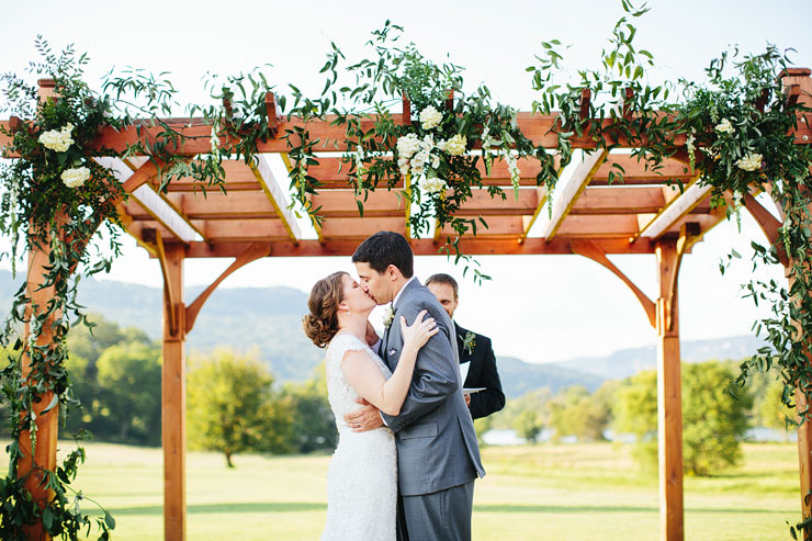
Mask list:
[[[125,342],[106,348],[95,362],[101,414],[122,441],[160,441],[160,349]],[[106,415],[105,415],[106,414]]]

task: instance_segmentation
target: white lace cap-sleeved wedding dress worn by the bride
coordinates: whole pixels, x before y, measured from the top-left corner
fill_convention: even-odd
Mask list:
[[[397,505],[397,452],[392,431],[381,427],[353,432],[343,415],[358,409],[358,393],[341,371],[347,351],[366,351],[385,377],[392,372],[364,342],[336,335],[327,349],[325,371],[338,448],[327,472],[327,523],[323,541],[394,541]]]

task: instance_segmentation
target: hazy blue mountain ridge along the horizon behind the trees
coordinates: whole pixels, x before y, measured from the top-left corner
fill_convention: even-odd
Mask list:
[[[22,283],[18,275],[0,270],[2,315]],[[188,288],[184,297],[194,300],[203,288]],[[162,291],[145,285],[84,280],[79,285],[79,302],[124,327],[144,329],[156,340],[161,337]],[[191,356],[206,353],[217,346],[238,351],[256,351],[280,381],[305,381],[324,359],[302,331],[302,316],[307,312],[307,295],[292,288],[235,288],[216,290],[201,311],[187,341]],[[742,359],[764,342],[751,336],[714,340],[684,341],[683,359]],[[508,397],[520,396],[539,387],[553,392],[572,385],[593,391],[605,380],[627,377],[655,367],[656,349],[627,349],[607,357],[535,364],[514,357],[498,357],[503,387]]]

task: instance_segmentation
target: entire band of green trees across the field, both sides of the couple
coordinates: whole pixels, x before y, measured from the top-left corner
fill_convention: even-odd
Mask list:
[[[121,328],[101,316],[92,331],[77,326],[68,335],[67,368],[82,407],[70,413],[67,430],[101,441],[159,446],[161,439],[161,348],[146,333]],[[736,363],[683,365],[683,424],[686,471],[708,475],[741,458],[749,427],[783,429],[792,412],[781,405],[783,384],[768,372],[745,388],[730,384]],[[552,440],[604,440],[608,430],[633,440],[644,465],[657,460],[656,372],[604,383],[590,393],[572,386],[509,399],[503,412],[477,419],[477,435],[512,428],[528,442],[542,431]],[[8,404],[3,404],[8,417]],[[235,454],[331,452],[338,441],[327,401],[324,364],[304,383],[278,384],[258,350],[215,349],[191,354],[187,380],[190,449]]]

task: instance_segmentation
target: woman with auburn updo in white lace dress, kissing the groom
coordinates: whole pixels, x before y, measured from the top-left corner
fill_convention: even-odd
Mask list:
[[[401,325],[404,348],[394,374],[366,345],[368,318],[375,301],[346,272],[319,280],[307,300],[307,337],[325,359],[327,393],[339,441],[327,472],[327,523],[323,540],[394,541],[397,506],[397,454],[392,431],[381,427],[353,432],[343,420],[359,397],[387,415],[397,415],[411,383],[417,352],[437,334],[435,320]]]

